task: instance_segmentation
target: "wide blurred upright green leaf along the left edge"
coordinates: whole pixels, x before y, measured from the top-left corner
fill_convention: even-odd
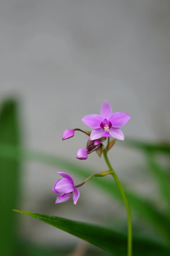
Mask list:
[[[0,112],[0,145],[9,143],[19,145],[19,125],[17,103],[4,101]],[[17,207],[19,185],[19,158],[5,159],[0,156],[0,212],[1,220],[1,255],[12,256],[14,251],[15,216],[11,209]]]

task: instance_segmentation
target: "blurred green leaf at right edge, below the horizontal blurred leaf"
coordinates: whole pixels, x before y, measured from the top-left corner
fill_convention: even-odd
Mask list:
[[[165,170],[165,168],[155,162],[154,156],[148,153],[147,159],[149,170],[152,172],[158,183],[162,198],[166,203],[166,207],[169,210],[170,215],[170,175],[168,175],[168,171]]]

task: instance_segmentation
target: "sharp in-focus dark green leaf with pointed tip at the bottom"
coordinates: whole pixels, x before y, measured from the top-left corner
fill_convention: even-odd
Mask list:
[[[35,219],[41,220],[55,228],[75,235],[101,249],[115,253],[117,256],[127,255],[126,236],[108,228],[56,216],[29,213],[19,210],[13,211],[23,213]],[[149,240],[134,238],[133,254],[137,256],[169,256],[170,249]]]

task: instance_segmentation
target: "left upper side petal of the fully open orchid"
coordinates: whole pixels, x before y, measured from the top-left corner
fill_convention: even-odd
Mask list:
[[[83,116],[81,120],[85,125],[89,126],[90,128],[96,129],[100,127],[102,117],[101,115],[90,114]]]

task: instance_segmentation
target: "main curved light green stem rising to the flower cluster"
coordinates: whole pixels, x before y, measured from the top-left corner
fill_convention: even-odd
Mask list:
[[[131,210],[130,210],[130,206],[129,206],[129,203],[128,203],[128,200],[126,198],[126,195],[124,193],[124,190],[121,186],[121,183],[118,179],[118,176],[116,175],[116,173],[114,172],[109,160],[108,160],[108,157],[107,157],[107,154],[106,154],[106,150],[104,149],[103,150],[103,155],[104,155],[104,158],[105,158],[105,161],[106,161],[106,164],[108,166],[108,168],[110,169],[110,171],[112,171],[112,176],[116,182],[116,184],[118,185],[118,188],[120,190],[120,193],[123,197],[123,200],[124,200],[124,203],[125,203],[125,206],[126,206],[126,211],[127,211],[127,218],[128,218],[128,240],[127,240],[127,247],[128,247],[128,253],[127,255],[128,256],[132,256],[132,217],[131,217]]]

